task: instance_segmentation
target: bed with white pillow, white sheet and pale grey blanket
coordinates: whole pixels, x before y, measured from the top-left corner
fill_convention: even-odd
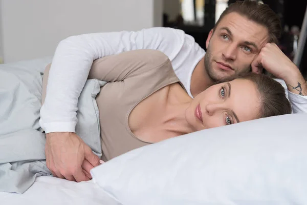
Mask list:
[[[0,192],[1,204],[307,203],[307,114],[257,119],[164,140],[94,168],[91,181],[77,183],[50,176],[43,168],[44,134],[37,110],[43,70],[51,59],[0,65],[0,189],[11,186],[19,191]],[[12,79],[22,84],[16,81],[15,85]],[[86,87],[89,93],[103,85],[91,82]],[[84,110],[79,112],[88,113],[96,123],[94,129],[96,107],[84,106],[93,106],[93,99],[84,95]],[[24,103],[16,107],[18,100]],[[77,128],[80,135],[86,135],[84,130]],[[10,147],[6,140],[12,136],[18,138]],[[39,141],[40,148],[28,147],[29,140]],[[92,143],[90,147],[99,155],[97,142]],[[18,152],[25,149],[31,156]],[[12,153],[18,154],[10,163],[4,156]],[[26,167],[35,168],[31,177],[15,169],[29,165],[29,159],[35,161]],[[5,170],[7,165],[12,167]]]

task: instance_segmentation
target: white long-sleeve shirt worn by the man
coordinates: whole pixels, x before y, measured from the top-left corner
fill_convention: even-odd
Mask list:
[[[62,40],[54,54],[49,73],[47,95],[40,110],[39,124],[46,133],[75,132],[78,97],[92,63],[107,55],[136,49],[154,49],[165,53],[188,94],[192,72],[205,51],[190,35],[172,28],[140,31],[91,33]],[[287,87],[286,87],[287,89]],[[307,113],[307,96],[288,92],[293,112]]]

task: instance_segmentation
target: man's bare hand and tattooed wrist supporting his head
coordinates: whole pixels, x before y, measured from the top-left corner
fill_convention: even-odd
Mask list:
[[[267,43],[255,57],[252,71],[261,73],[265,68],[277,78],[283,79],[288,90],[299,95],[307,95],[307,83],[296,65],[274,43]]]

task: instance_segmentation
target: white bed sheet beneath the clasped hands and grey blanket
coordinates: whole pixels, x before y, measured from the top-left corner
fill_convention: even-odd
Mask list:
[[[74,182],[50,176],[36,178],[24,193],[0,192],[1,205],[122,205],[91,181]]]

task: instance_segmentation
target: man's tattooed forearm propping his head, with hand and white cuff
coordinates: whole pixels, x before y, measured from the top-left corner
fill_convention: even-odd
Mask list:
[[[276,44],[268,43],[254,59],[253,72],[258,72],[261,67],[287,84],[293,112],[307,113],[307,83],[297,66]]]

